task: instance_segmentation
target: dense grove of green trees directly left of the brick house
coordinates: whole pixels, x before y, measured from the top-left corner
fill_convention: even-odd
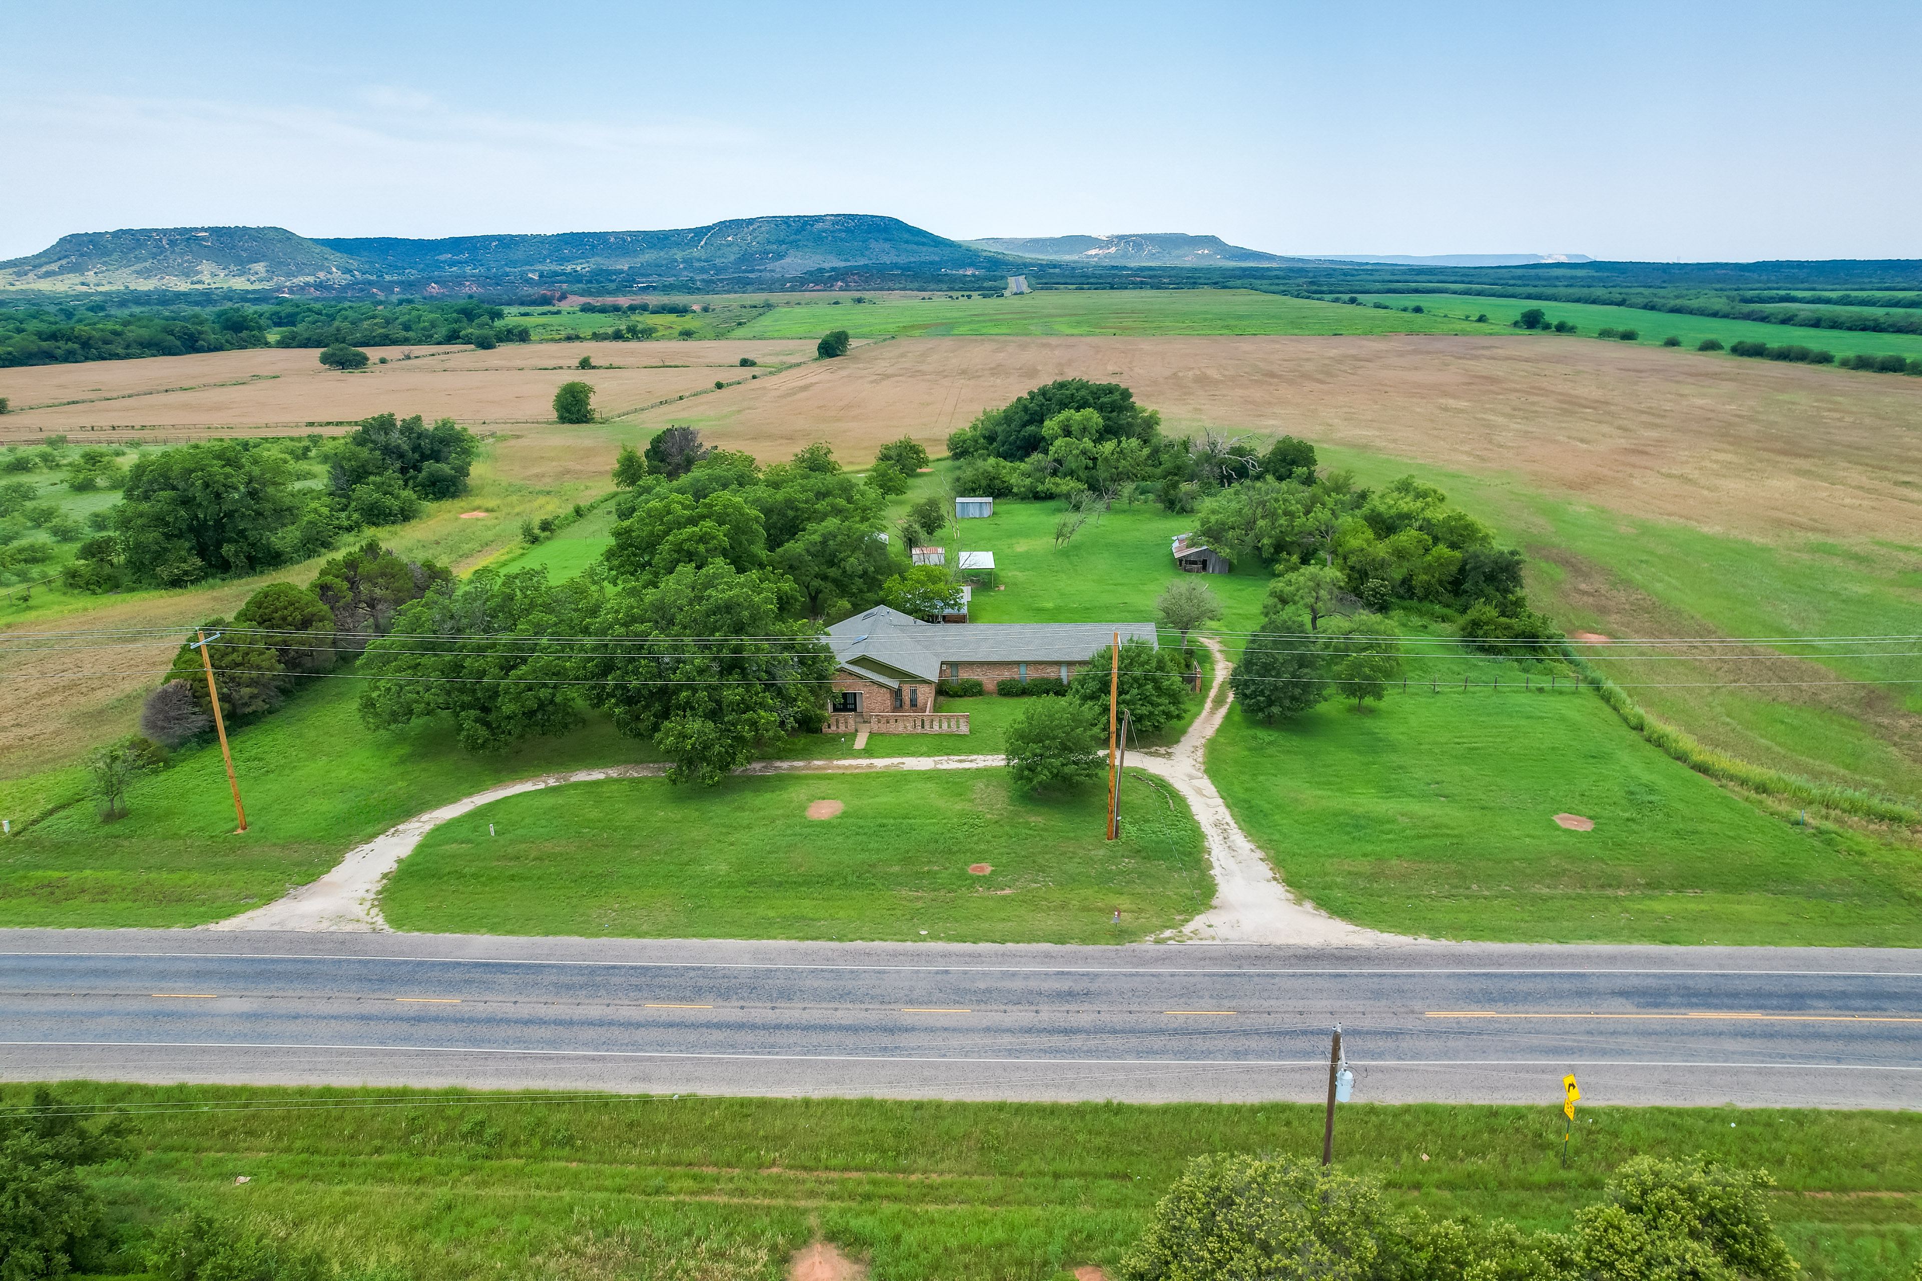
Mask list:
[[[882,528],[886,490],[825,444],[761,467],[694,428],[623,447],[613,478],[613,544],[579,578],[480,570],[400,611],[361,659],[363,720],[448,714],[463,747],[488,751],[598,709],[667,755],[669,778],[703,784],[765,739],[819,730],[834,672],[821,620],[911,568]]]

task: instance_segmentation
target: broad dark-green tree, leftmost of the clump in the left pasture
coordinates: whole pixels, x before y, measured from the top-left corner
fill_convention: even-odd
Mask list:
[[[283,534],[302,507],[292,482],[284,453],[238,440],[140,457],[113,509],[127,568],[144,582],[183,586],[279,565]]]

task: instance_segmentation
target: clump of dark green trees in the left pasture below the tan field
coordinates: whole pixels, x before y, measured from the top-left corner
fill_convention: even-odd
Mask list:
[[[479,447],[454,419],[381,413],[333,444],[209,440],[146,453],[62,576],[81,592],[181,588],[306,561],[465,494]],[[321,484],[308,488],[315,472]]]

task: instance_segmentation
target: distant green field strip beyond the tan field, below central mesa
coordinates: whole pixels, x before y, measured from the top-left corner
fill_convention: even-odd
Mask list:
[[[880,334],[1486,334],[1442,315],[1284,298],[1257,290],[1042,290],[1021,298],[890,298],[834,305],[828,300],[775,307],[730,338],[813,338],[846,328]],[[1893,348],[1891,348],[1893,350]]]

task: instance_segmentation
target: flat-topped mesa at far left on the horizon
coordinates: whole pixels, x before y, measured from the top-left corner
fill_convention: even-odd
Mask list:
[[[202,290],[340,286],[375,275],[281,227],[142,227],[62,236],[54,248],[0,263],[13,290]]]

